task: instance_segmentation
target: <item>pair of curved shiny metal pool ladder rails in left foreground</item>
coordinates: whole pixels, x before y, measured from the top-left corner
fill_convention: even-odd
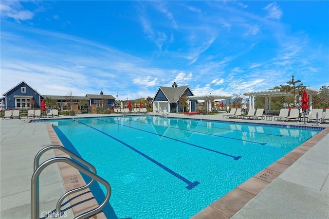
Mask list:
[[[92,171],[83,167],[80,163],[72,160],[71,158],[67,158],[67,157],[50,158],[50,159],[44,161],[43,163],[41,163],[41,165],[39,165],[41,155],[43,153],[45,153],[46,151],[49,151],[52,149],[58,149],[58,150],[65,152],[71,158],[78,160],[80,163],[82,163],[86,167],[90,168]],[[31,219],[37,219],[37,218],[39,219],[39,215],[40,215],[40,212],[39,212],[40,211],[40,209],[39,209],[39,175],[46,167],[48,167],[49,165],[51,165],[52,163],[55,163],[55,162],[65,162],[68,165],[75,167],[79,171],[83,172],[84,174],[86,174],[87,176],[92,178],[92,180],[85,186],[82,186],[82,187],[79,187],[76,189],[72,189],[72,190],[66,192],[65,194],[63,194],[57,202],[56,211],[52,214],[52,217],[59,217],[62,215],[62,213],[64,213],[64,211],[61,211],[61,205],[62,205],[64,199],[68,195],[73,194],[75,192],[79,192],[84,189],[87,189],[90,185],[93,184],[93,182],[95,180],[97,180],[98,182],[103,184],[106,188],[106,196],[105,196],[104,201],[97,208],[87,211],[83,214],[80,214],[79,216],[77,216],[75,218],[86,218],[86,217],[99,213],[103,209],[103,207],[107,204],[109,197],[111,196],[111,186],[108,184],[108,182],[105,179],[101,178],[100,176],[98,176],[96,174],[95,167],[93,165],[91,165],[89,162],[78,157],[76,154],[72,153],[71,151],[67,150],[66,148],[64,148],[60,145],[50,145],[48,147],[43,148],[34,157],[33,175],[31,178]]]

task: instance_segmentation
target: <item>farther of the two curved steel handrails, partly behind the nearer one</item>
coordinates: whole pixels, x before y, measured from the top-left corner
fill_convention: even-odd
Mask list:
[[[40,161],[40,158],[41,158],[41,155],[44,154],[46,151],[49,151],[49,150],[52,150],[52,149],[58,149],[58,150],[61,150],[62,152],[68,154],[70,157],[73,157],[74,159],[78,160],[79,162],[83,163],[83,165],[87,166],[88,168],[90,168],[93,173],[97,174],[96,172],[96,168],[90,164],[89,162],[85,161],[84,159],[78,157],[76,154],[72,153],[71,151],[67,150],[66,148],[62,147],[61,145],[49,145],[45,148],[43,148],[42,150],[40,150],[38,152],[38,154],[35,155],[34,157],[34,163],[33,163],[33,172],[39,167],[39,161]],[[81,190],[84,190],[86,188],[88,188],[89,186],[91,186],[93,183],[94,183],[95,179],[92,178],[92,180],[85,186],[82,186],[82,187],[79,187],[79,188],[76,188],[76,189],[72,189],[68,192],[66,192],[65,194],[63,194],[59,199],[58,199],[58,202],[57,202],[57,205],[56,205],[56,214],[57,213],[60,213],[61,212],[61,205],[64,201],[64,199],[69,196],[70,194],[73,194],[75,192],[79,192]],[[38,185],[39,187],[39,185]]]

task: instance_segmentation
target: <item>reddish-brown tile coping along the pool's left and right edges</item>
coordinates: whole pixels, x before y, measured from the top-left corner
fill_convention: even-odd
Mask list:
[[[46,125],[51,143],[63,146],[51,124],[46,123]],[[236,187],[202,211],[195,214],[192,218],[230,218],[328,133],[329,128],[327,127],[326,129],[319,132],[316,136],[308,139],[293,151],[289,152],[261,172],[252,176],[240,186]],[[58,157],[69,157],[67,154],[60,150],[55,150],[55,154]],[[59,163],[59,168],[63,177],[66,191],[86,185],[82,175],[74,167],[71,167],[66,163]],[[85,193],[86,191],[89,192],[79,196],[78,198],[74,198],[78,194]],[[82,204],[71,208],[75,216],[78,216],[79,214],[82,214],[88,210],[94,209],[99,205],[89,189],[78,192],[75,195],[70,195],[69,199],[71,198],[74,198],[70,201],[71,206],[82,202]],[[89,198],[93,199],[85,202],[85,200]],[[106,216],[103,212],[101,212],[95,215],[93,218],[106,218]]]

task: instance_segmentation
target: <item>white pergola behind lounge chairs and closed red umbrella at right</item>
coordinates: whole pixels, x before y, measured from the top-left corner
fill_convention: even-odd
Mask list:
[[[309,110],[312,111],[313,106],[313,95],[317,95],[321,93],[321,90],[313,88],[313,87],[306,87],[306,92],[309,95]],[[271,110],[271,97],[283,97],[283,96],[293,96],[291,93],[280,92],[280,89],[274,90],[263,90],[258,92],[247,92],[244,95],[249,96],[249,108],[255,107],[254,97],[265,97],[265,112]],[[297,94],[298,95],[298,94]],[[297,99],[297,95],[295,99]]]

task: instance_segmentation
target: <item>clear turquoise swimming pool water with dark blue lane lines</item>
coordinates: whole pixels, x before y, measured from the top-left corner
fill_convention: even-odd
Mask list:
[[[134,219],[189,218],[320,131],[144,115],[50,123],[111,185],[108,217]]]

